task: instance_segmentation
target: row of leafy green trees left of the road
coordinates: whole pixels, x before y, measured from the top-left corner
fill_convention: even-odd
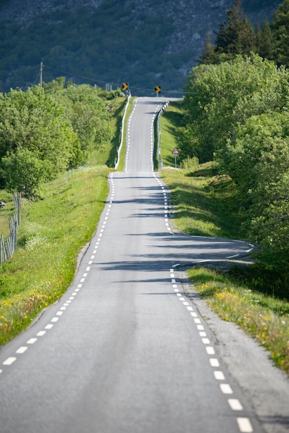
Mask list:
[[[111,141],[109,93],[64,77],[0,93],[0,188],[39,196],[41,185]]]

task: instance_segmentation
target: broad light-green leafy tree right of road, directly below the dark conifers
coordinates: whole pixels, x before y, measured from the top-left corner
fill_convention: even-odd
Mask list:
[[[288,105],[288,72],[258,55],[239,55],[230,62],[196,66],[185,92],[194,154],[205,162],[216,151],[221,154],[238,123]]]

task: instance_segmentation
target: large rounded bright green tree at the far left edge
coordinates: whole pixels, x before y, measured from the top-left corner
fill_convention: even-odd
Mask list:
[[[73,131],[64,108],[39,86],[26,92],[11,90],[0,98],[0,168],[4,163],[12,167],[12,156],[19,149],[26,149],[29,155],[44,162],[44,181],[55,178],[69,167],[75,167],[81,160],[80,142]],[[21,154],[23,156],[23,154]],[[25,157],[28,158],[28,154]],[[35,163],[36,164],[36,163]],[[3,183],[4,182],[4,183]],[[8,177],[2,178],[6,186]]]

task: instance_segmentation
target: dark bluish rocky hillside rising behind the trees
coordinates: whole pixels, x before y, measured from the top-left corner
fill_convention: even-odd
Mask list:
[[[59,4],[60,3],[60,4]],[[2,0],[0,91],[65,75],[99,86],[129,82],[132,93],[182,91],[209,30],[233,0]],[[281,1],[244,0],[254,24]],[[246,8],[248,10],[246,10]]]

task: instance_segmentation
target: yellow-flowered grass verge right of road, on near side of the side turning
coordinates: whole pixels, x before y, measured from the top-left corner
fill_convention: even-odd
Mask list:
[[[234,277],[234,269],[225,274],[196,267],[188,275],[215,313],[252,335],[289,375],[289,302],[253,291],[245,279]]]

